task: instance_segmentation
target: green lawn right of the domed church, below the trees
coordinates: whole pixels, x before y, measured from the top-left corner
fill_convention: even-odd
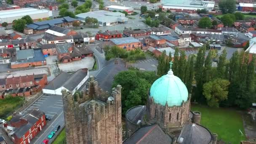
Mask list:
[[[242,116],[234,109],[211,108],[202,105],[192,105],[192,111],[200,111],[200,124],[208,128],[211,132],[218,134],[218,139],[231,144],[240,144],[245,140]],[[241,130],[244,136],[241,136]]]

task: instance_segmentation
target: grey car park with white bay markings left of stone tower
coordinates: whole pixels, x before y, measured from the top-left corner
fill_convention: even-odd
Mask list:
[[[46,121],[45,127],[38,135],[32,139],[32,144],[40,144],[44,139],[47,139],[48,134],[51,133],[54,127],[60,125],[61,128],[64,127],[64,114],[63,114],[63,101],[62,96],[60,95],[43,95],[30,107],[24,110],[26,114],[31,109],[40,109],[45,112],[45,115],[48,115],[51,120]],[[58,131],[59,132],[59,131]],[[55,134],[57,135],[58,132]],[[53,137],[54,138],[54,137]],[[50,143],[53,139],[50,139]]]

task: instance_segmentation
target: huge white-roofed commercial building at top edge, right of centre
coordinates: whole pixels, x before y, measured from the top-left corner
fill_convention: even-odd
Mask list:
[[[203,1],[203,0],[162,0],[162,9],[164,11],[173,12],[189,12],[195,13],[197,9],[206,9],[212,11],[214,8],[214,1]]]

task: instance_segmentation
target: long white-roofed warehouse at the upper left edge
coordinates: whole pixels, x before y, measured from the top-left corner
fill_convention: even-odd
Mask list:
[[[23,16],[29,15],[33,20],[46,19],[52,17],[52,11],[36,8],[20,8],[13,10],[1,11],[0,24],[7,22],[11,24],[13,20],[21,19]]]

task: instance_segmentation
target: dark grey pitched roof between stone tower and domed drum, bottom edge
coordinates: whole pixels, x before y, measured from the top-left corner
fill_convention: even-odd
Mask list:
[[[171,144],[171,137],[159,125],[149,125],[140,128],[123,144]],[[198,143],[200,144],[200,143]]]

